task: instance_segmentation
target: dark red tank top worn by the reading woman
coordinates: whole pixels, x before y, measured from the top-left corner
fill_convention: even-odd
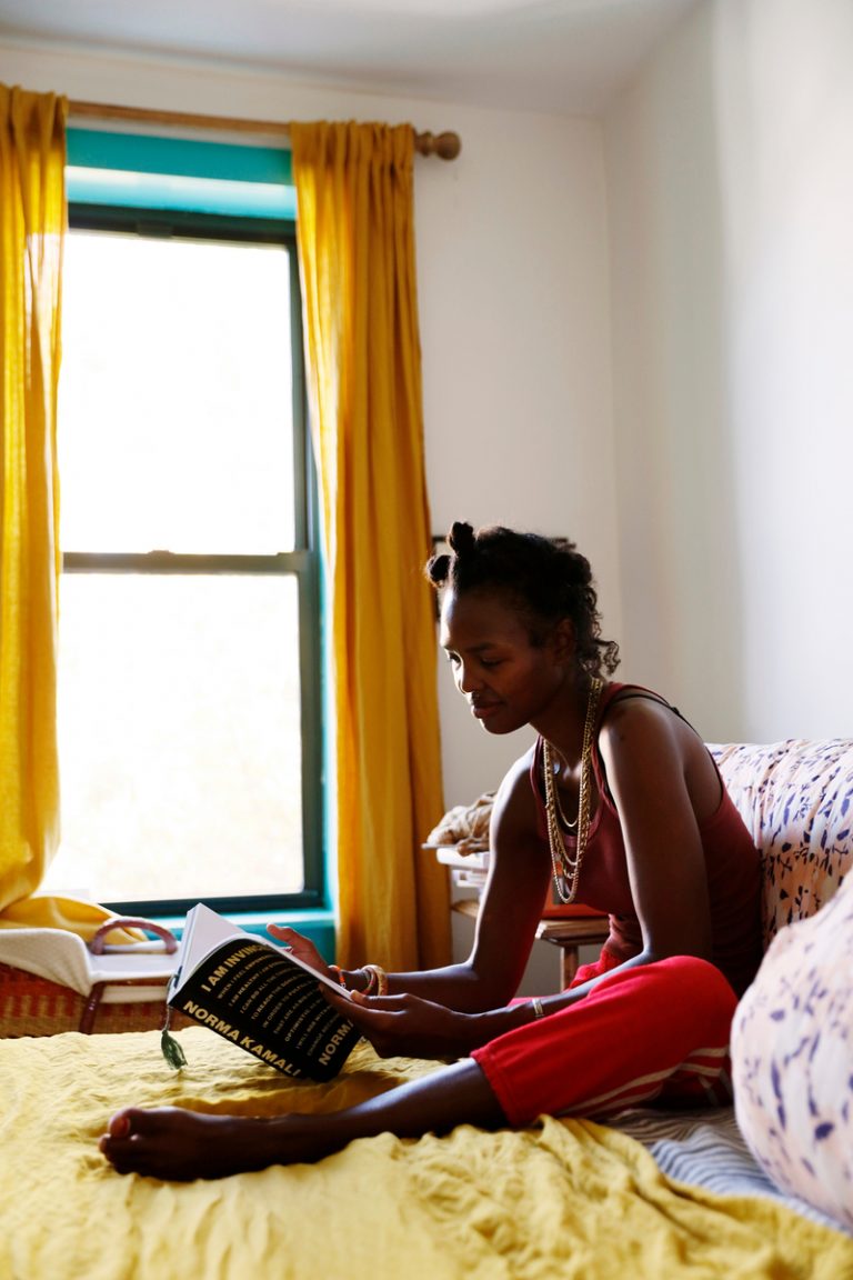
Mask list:
[[[597,731],[607,707],[623,690],[636,690],[636,696],[652,698],[669,707],[669,703],[657,694],[639,685],[610,684],[601,694],[596,717],[592,768],[599,788],[599,804],[590,823],[577,896],[578,901],[609,914],[610,937],[606,948],[619,964],[642,951],[642,929],[630,892],[619,814],[599,753]],[[679,714],[674,707],[670,709],[673,714]],[[531,782],[536,796],[540,833],[547,840],[541,737],[533,753]],[[701,824],[700,836],[707,868],[712,959],[737,993],[742,995],[752,982],[761,960],[761,856],[721,778],[720,785],[723,786],[720,804]],[[567,851],[574,854],[574,836],[567,835],[564,840]]]

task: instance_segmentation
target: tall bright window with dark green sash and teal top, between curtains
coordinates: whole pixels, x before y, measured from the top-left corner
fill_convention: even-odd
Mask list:
[[[265,163],[69,138],[46,887],[133,913],[325,906],[293,193]]]

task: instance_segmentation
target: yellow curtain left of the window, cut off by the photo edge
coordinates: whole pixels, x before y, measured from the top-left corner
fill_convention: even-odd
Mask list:
[[[0,84],[0,927],[90,936],[110,914],[38,896],[59,845],[56,392],[65,118]]]

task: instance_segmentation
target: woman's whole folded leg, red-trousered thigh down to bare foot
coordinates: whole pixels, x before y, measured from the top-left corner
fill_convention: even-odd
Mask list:
[[[309,1164],[379,1133],[418,1138],[458,1124],[523,1128],[540,1115],[600,1116],[666,1089],[698,1102],[726,1078],[735,1005],[717,969],[674,956],[622,969],[577,1005],[345,1111],[257,1120],[129,1108],[110,1120],[101,1151],[119,1172],[220,1178]]]

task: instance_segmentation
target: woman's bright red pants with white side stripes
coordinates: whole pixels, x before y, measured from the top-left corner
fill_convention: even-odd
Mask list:
[[[607,952],[572,986],[606,969]],[[670,956],[623,969],[556,1014],[476,1050],[514,1128],[540,1115],[602,1117],[660,1100],[732,1101],[729,1029],[738,997],[719,969]]]

